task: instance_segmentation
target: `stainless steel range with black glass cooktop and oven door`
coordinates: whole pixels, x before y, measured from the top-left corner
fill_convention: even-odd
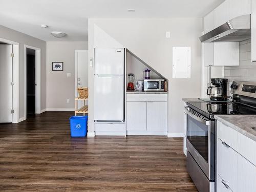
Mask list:
[[[215,115],[255,115],[256,82],[233,81],[231,101],[187,102],[187,171],[199,192],[215,191]]]

